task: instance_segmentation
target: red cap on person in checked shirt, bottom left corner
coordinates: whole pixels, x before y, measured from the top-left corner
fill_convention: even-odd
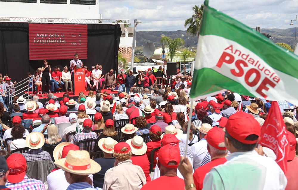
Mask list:
[[[27,164],[22,154],[11,154],[6,159],[9,174],[7,180],[9,183],[19,183],[24,180]]]

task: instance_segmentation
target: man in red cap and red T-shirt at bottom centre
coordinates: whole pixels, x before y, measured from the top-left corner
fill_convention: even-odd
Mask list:
[[[177,167],[180,162],[180,150],[179,146],[173,146],[171,144],[162,146],[159,149],[157,166],[160,170],[160,177],[146,183],[141,190],[172,190],[172,189],[184,189],[183,179],[177,176]]]

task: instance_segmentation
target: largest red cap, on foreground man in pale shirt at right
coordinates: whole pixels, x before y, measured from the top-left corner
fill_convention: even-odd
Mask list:
[[[236,112],[229,117],[225,130],[229,133],[229,135],[231,135],[231,137],[244,144],[257,143],[258,139],[246,140],[246,137],[249,135],[255,134],[259,137],[261,135],[261,126],[257,120],[255,120],[254,116],[251,114],[243,111]]]

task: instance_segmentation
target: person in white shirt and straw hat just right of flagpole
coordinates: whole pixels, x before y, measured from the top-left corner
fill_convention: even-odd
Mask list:
[[[198,143],[193,144],[190,148],[193,151],[193,168],[194,170],[197,169],[204,156],[207,154],[207,141],[205,136],[207,135],[208,131],[212,129],[210,124],[202,124],[200,127],[197,128],[199,130],[199,137],[200,141]]]

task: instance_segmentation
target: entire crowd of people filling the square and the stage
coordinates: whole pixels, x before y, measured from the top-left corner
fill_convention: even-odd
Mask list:
[[[69,69],[82,65],[77,58],[75,55]],[[68,68],[64,67],[63,72],[68,73],[62,74],[64,78],[55,78],[59,70],[54,69],[55,88],[60,90],[63,83],[71,88]],[[113,69],[102,75],[100,69],[99,64],[91,72],[86,69],[88,96],[81,92],[77,99],[70,99],[66,92],[58,101],[49,93],[44,104],[37,95],[30,101],[15,96],[9,108],[0,101],[0,189],[298,186],[295,105],[278,101],[290,143],[288,172],[284,173],[275,162],[274,150],[258,145],[270,101],[224,91],[191,102],[192,79],[184,78],[179,69],[172,86],[165,89],[159,88],[163,86],[152,74],[158,70],[162,74],[162,68],[140,71],[136,76],[132,71],[115,76]],[[41,93],[48,92],[41,83],[50,83],[50,72],[45,60],[34,77],[35,85],[42,86]],[[103,84],[117,93],[100,91]],[[288,109],[294,111],[285,111]]]

